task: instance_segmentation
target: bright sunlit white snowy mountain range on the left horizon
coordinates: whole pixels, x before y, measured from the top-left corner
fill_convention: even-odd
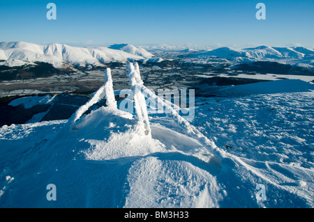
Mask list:
[[[115,47],[71,47],[53,43],[36,45],[29,42],[0,42],[0,60],[3,65],[15,65],[32,62],[51,63],[55,68],[70,64],[75,66],[103,63],[127,62],[151,58],[154,55],[133,45],[114,45]],[[13,62],[15,61],[15,62]],[[19,62],[17,62],[19,61]]]

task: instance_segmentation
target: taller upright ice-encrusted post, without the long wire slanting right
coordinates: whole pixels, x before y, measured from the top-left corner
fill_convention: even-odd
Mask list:
[[[145,97],[142,94],[143,81],[140,77],[140,69],[137,63],[127,63],[128,77],[130,79],[131,90],[134,96],[135,112],[137,113],[139,132],[151,136],[151,127],[149,126],[149,118],[147,114],[147,105]]]

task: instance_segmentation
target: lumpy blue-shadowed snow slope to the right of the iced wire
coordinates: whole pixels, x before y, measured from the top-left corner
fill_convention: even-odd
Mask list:
[[[199,109],[202,115],[193,123],[218,147],[257,161],[313,168],[313,92],[214,101],[198,103],[204,104]]]

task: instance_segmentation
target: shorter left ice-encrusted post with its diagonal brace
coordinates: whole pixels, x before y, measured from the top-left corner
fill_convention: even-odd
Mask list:
[[[81,118],[81,116],[89,109],[90,106],[96,104],[100,100],[106,97],[106,104],[112,108],[117,108],[117,102],[114,100],[114,90],[112,85],[112,77],[111,77],[111,70],[107,68],[105,70],[105,84],[101,86],[95,95],[91,97],[91,99],[84,105],[80,106],[79,109],[70,117],[68,122],[71,123],[72,127],[76,120]]]

